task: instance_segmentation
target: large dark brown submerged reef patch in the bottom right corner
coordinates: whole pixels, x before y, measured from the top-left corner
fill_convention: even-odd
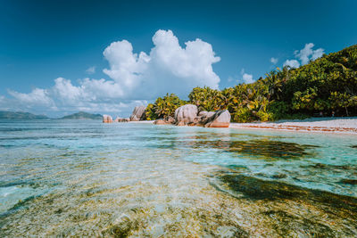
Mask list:
[[[270,229],[264,237],[354,237],[357,199],[320,190],[218,172],[217,189],[257,208],[256,219]],[[258,216],[257,216],[258,215]],[[246,218],[245,218],[246,220]],[[251,234],[252,235],[252,234]]]

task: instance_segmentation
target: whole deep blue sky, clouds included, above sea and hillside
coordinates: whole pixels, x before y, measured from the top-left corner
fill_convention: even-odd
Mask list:
[[[355,45],[356,9],[356,1],[3,0],[0,110],[128,116],[163,92],[249,82],[286,60],[303,64],[306,44],[309,59]],[[129,68],[122,62],[135,56],[122,53],[130,48],[122,40],[137,53]]]

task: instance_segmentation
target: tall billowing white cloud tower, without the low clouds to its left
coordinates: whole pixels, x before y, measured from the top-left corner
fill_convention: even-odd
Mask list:
[[[201,39],[188,41],[186,47],[171,30],[158,30],[150,53],[133,53],[127,40],[113,42],[104,50],[110,69],[104,69],[119,84],[126,98],[154,99],[166,93],[186,97],[195,86],[218,88],[220,78],[212,64],[220,62],[212,45]]]

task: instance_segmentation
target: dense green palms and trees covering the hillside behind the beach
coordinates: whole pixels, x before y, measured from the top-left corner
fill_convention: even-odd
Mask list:
[[[357,45],[323,55],[298,69],[273,70],[252,84],[221,91],[195,87],[188,98],[200,111],[227,109],[237,122],[303,119],[320,111],[357,115]],[[167,94],[148,105],[146,116],[173,116],[185,103],[175,94]]]

